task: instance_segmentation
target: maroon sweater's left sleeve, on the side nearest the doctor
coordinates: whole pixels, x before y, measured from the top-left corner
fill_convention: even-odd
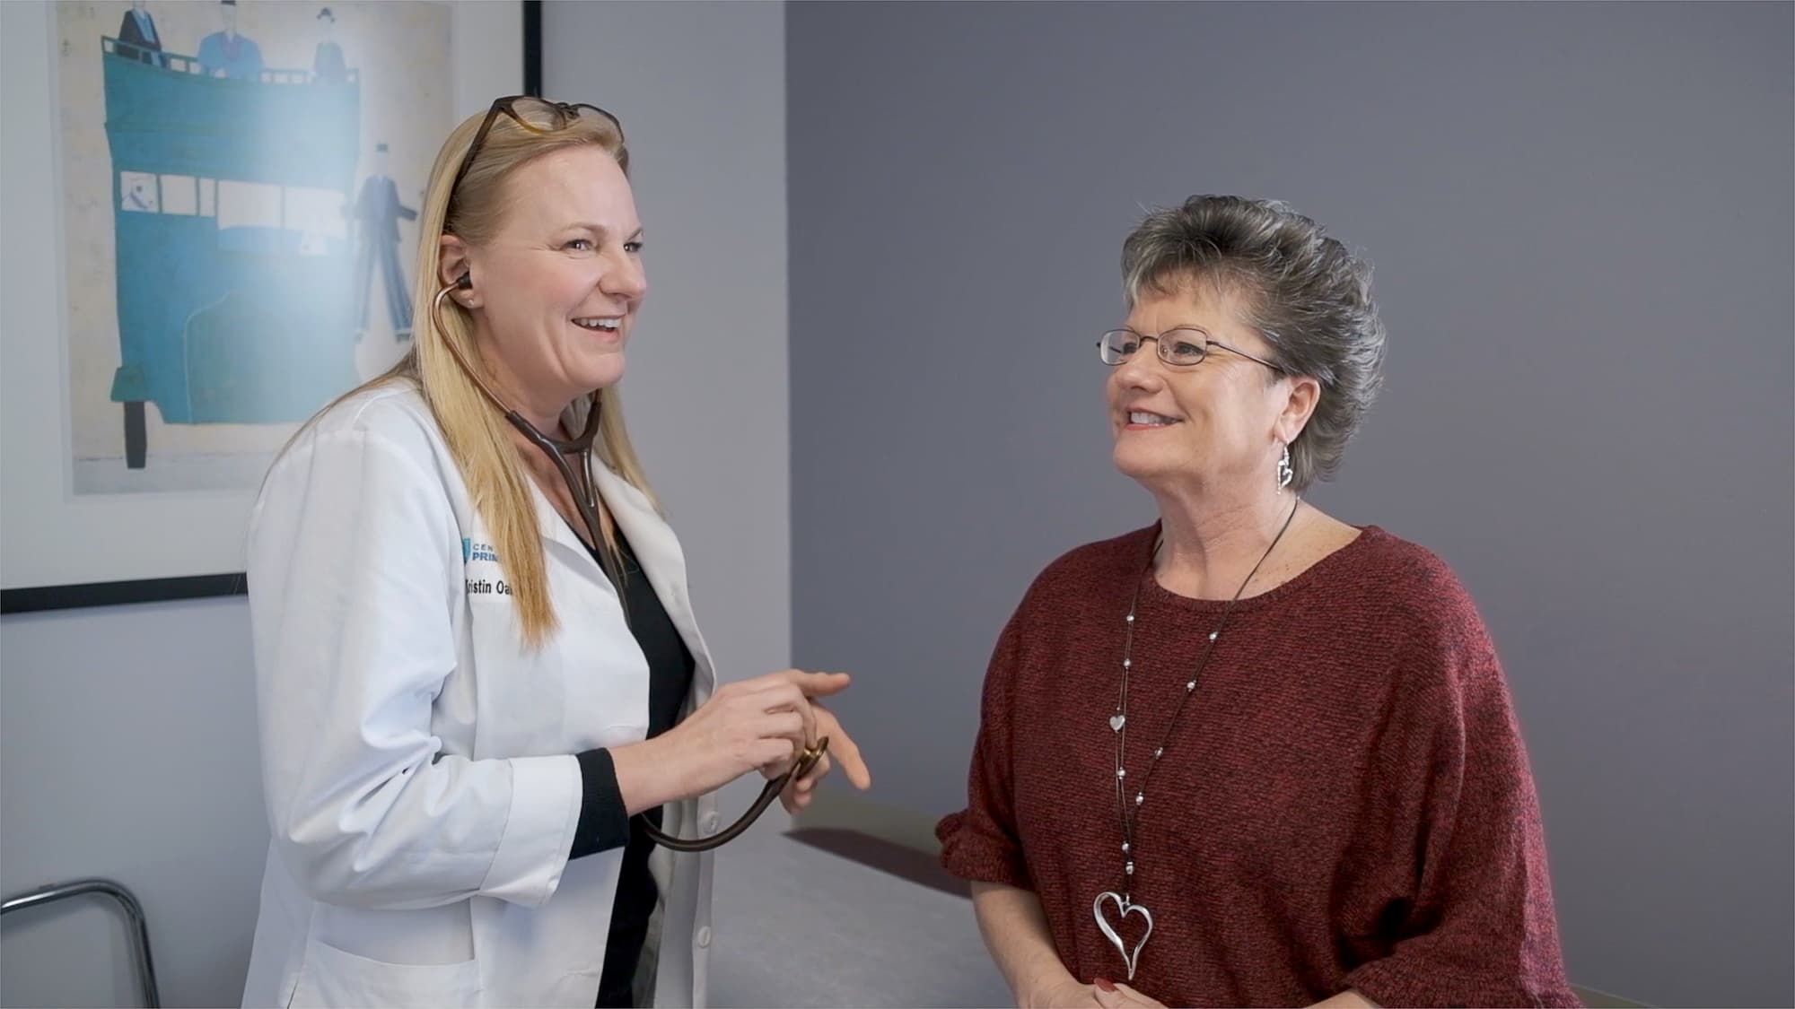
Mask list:
[[[1027,605],[1027,603],[1023,603]],[[985,670],[978,738],[968,772],[966,810],[935,826],[941,864],[964,880],[1034,889],[1016,833],[1011,761],[1011,693],[1020,650],[1021,610],[1011,618]]]

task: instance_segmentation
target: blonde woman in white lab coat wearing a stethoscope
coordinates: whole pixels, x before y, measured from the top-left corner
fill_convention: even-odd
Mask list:
[[[244,1005],[704,1005],[711,856],[657,828],[716,833],[711,792],[752,770],[795,767],[802,806],[822,738],[871,785],[815,700],[845,675],[713,689],[616,391],[648,291],[626,172],[594,106],[456,127],[416,345],[267,474]]]

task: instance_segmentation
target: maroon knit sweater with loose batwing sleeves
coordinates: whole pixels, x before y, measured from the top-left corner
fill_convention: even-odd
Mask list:
[[[1127,975],[1091,901],[1122,891],[1124,614],[1156,528],[1055,560],[985,675],[957,876],[1034,891],[1082,982]],[[1224,603],[1145,578],[1129,795]],[[1240,600],[1145,786],[1134,987],[1169,1005],[1576,1005],[1540,810],[1495,648],[1427,549],[1375,526]],[[1122,932],[1133,941],[1140,917]]]

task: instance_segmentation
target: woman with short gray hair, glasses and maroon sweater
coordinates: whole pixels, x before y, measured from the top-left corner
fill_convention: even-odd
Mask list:
[[[1160,521],[1036,578],[939,828],[1018,1004],[1574,1005],[1470,596],[1301,499],[1379,386],[1370,266],[1197,196],[1122,269],[1115,463]]]

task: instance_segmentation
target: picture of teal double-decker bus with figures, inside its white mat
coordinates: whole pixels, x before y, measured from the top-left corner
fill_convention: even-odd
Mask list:
[[[74,488],[253,487],[298,422],[411,339],[413,221],[449,127],[449,11],[57,7]],[[339,22],[355,32],[337,38]],[[433,34],[440,45],[420,52]],[[359,65],[388,52],[406,56]],[[70,115],[92,86],[83,56],[99,63],[99,122]],[[102,151],[77,135],[95,126]],[[90,154],[108,162],[109,250],[77,237],[77,219],[99,217],[83,192],[99,181]],[[108,251],[109,269],[95,262]],[[111,312],[93,289],[106,282]]]

